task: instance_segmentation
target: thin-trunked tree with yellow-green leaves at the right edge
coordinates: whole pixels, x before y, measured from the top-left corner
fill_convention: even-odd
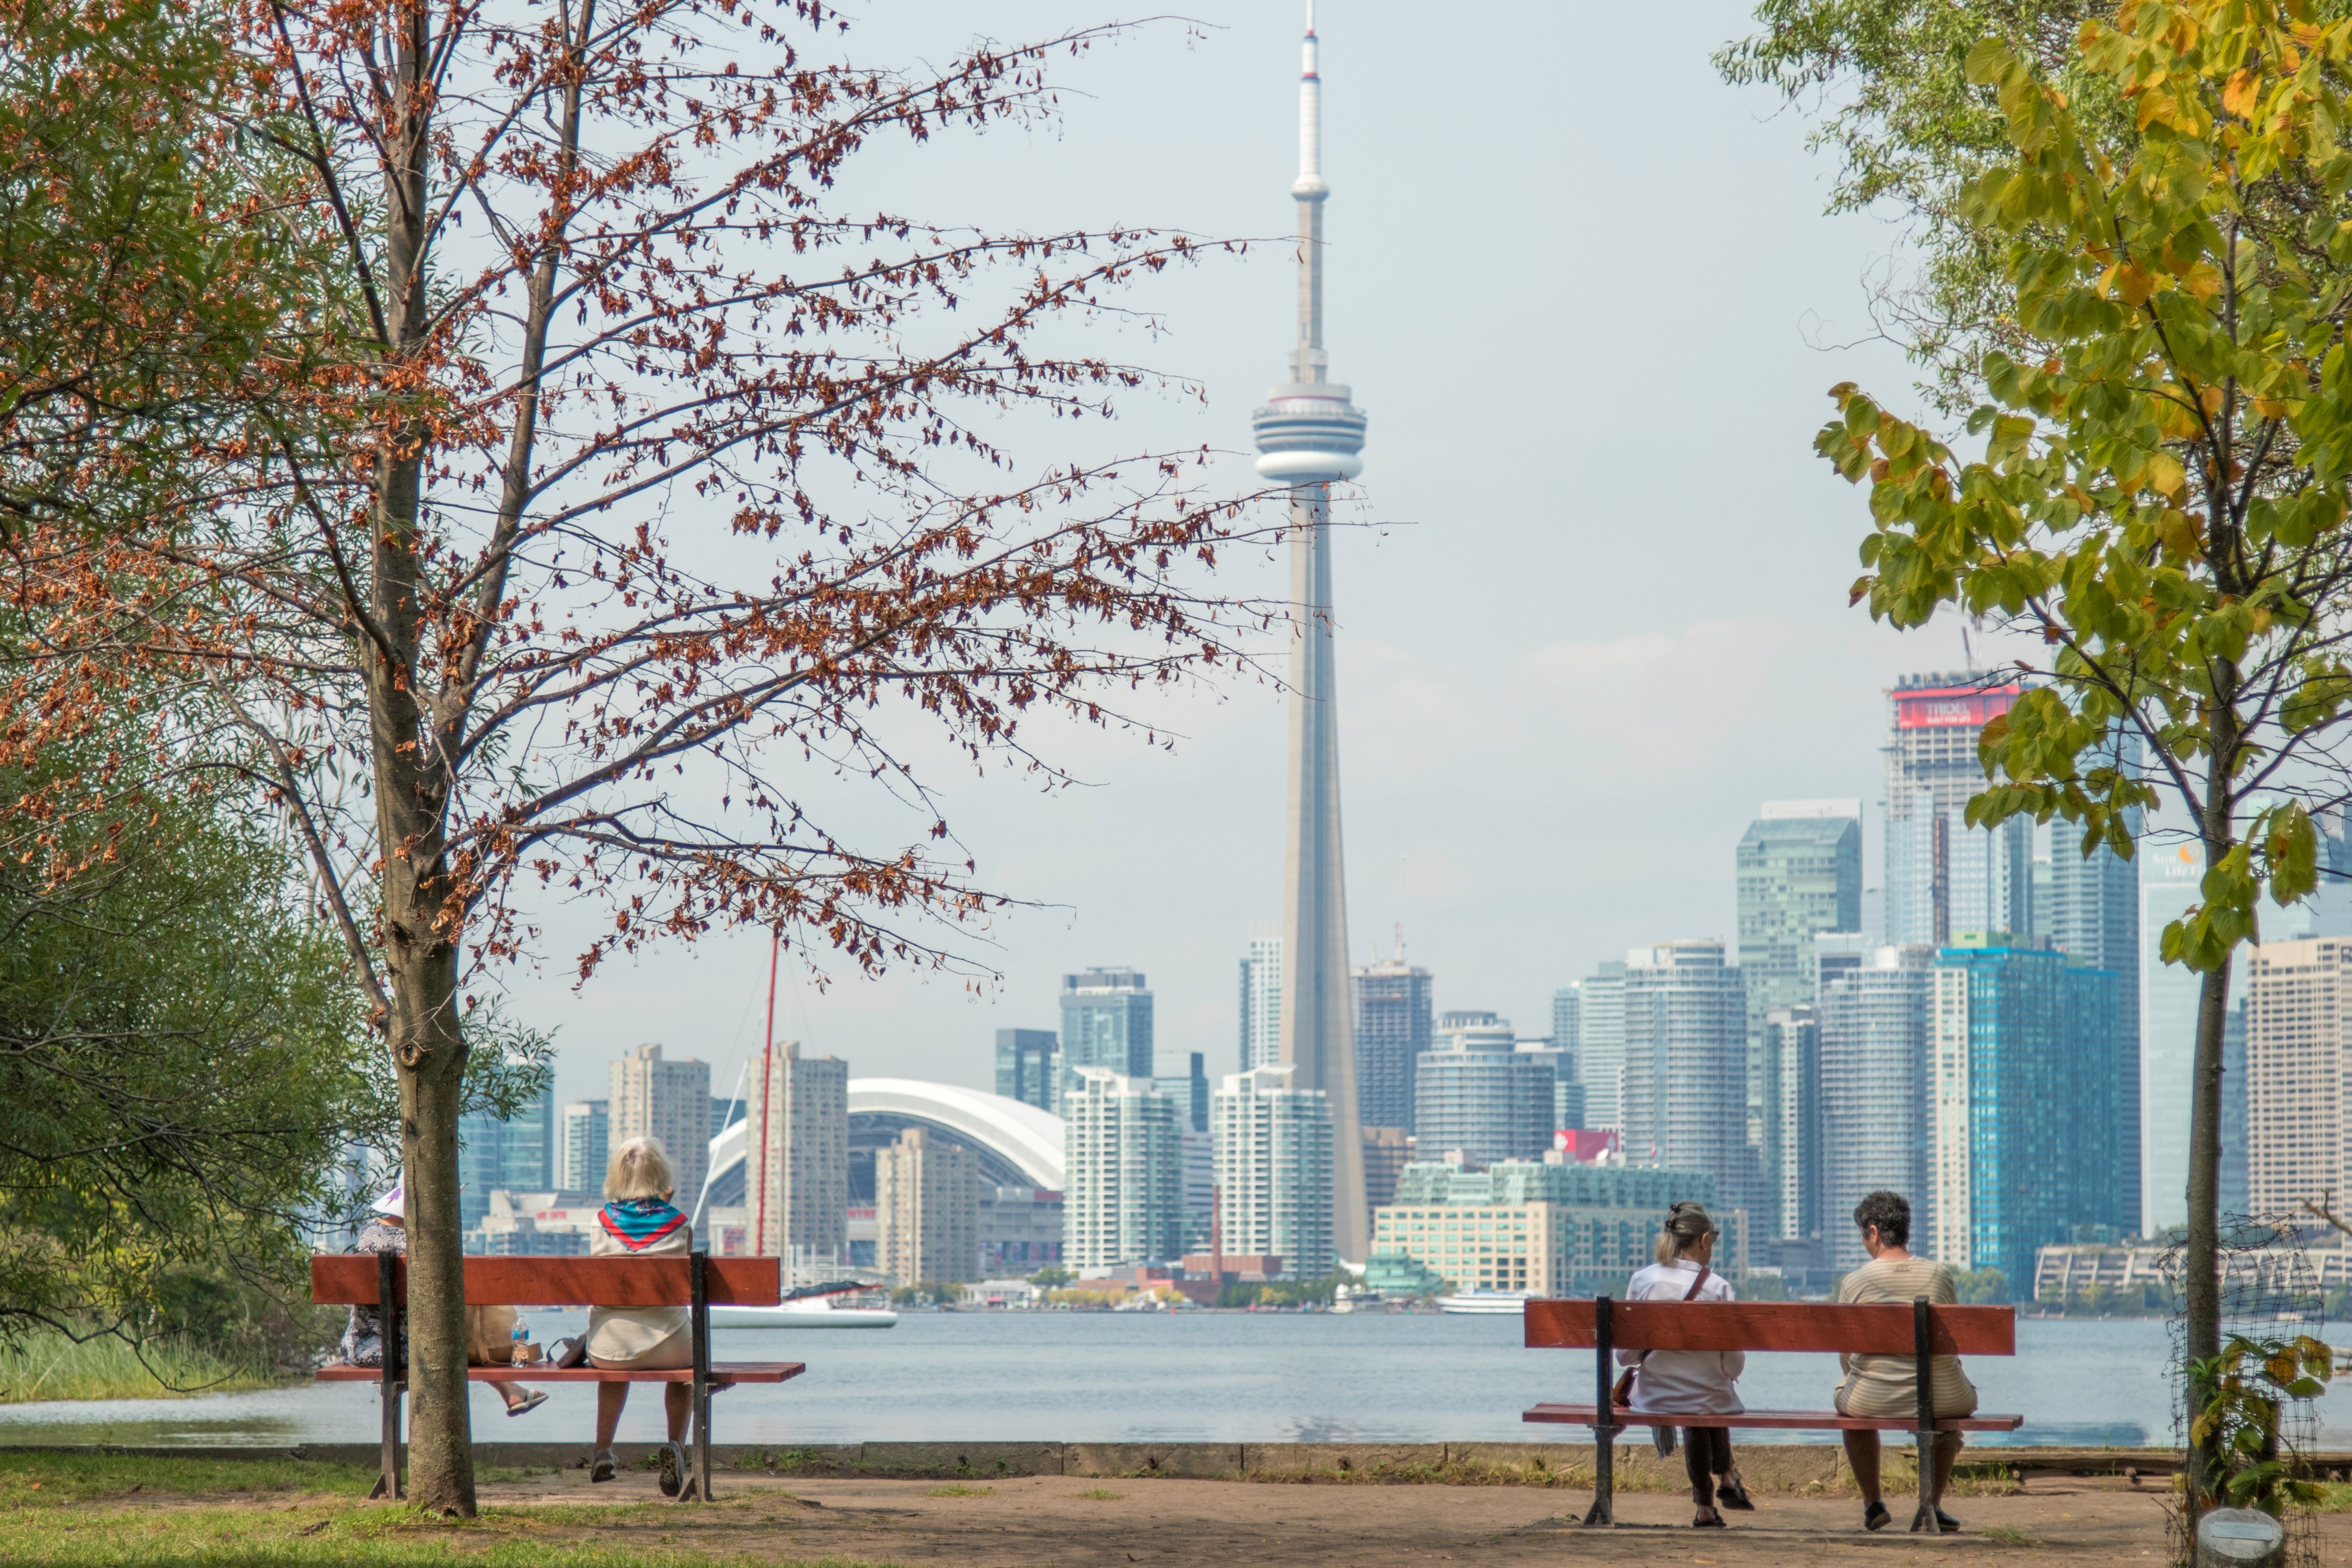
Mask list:
[[[1860,390],[1818,449],[1870,489],[1856,602],[2030,632],[2034,679],[1985,726],[1971,825],[2063,818],[2131,856],[2129,813],[2169,802],[2204,849],[2201,903],[2164,929],[2199,971],[2185,1316],[2220,1356],[2220,1039],[2258,903],[2314,886],[2312,804],[2347,799],[2340,738],[2352,552],[2352,21],[2298,0],[2126,2],[2086,21],[2077,68],[2131,106],[2126,158],[2002,40],[1969,54],[2009,155],[1959,216],[2002,259],[2023,348],[1983,360],[1983,456]],[[2145,766],[2119,766],[2126,729]],[[2197,1403],[2211,1389],[2192,1392]],[[2192,1483],[2213,1497],[2213,1443]]]

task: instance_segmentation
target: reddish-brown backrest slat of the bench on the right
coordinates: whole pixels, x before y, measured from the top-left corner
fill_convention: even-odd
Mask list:
[[[2013,1307],[1929,1307],[1940,1356],[2018,1354]],[[1609,1302],[1609,1340],[1618,1349],[1844,1349],[1907,1356],[1915,1349],[1910,1302]],[[1592,1349],[1590,1300],[1526,1302],[1529,1349]]]

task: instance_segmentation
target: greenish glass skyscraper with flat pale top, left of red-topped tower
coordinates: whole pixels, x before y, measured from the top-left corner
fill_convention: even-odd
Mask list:
[[[1740,985],[1748,1027],[1780,1006],[1811,1006],[1816,931],[1863,919],[1863,802],[1769,799],[1740,837],[1736,865]]]

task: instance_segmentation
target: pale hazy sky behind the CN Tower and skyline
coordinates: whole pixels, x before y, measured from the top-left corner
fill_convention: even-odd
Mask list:
[[[1054,132],[882,153],[906,212],[995,228],[1152,223],[1282,235],[1294,221],[1298,12],[1202,0],[1058,66]],[[976,21],[1033,38],[1105,21],[1084,0],[849,7],[844,49],[946,59]],[[1338,541],[1350,945],[1437,976],[1439,1009],[1550,1030],[1550,994],[1632,943],[1731,936],[1731,851],[1757,802],[1879,795],[1882,689],[1950,668],[1959,637],[1846,609],[1863,498],[1811,454],[1825,388],[1893,400],[1863,277],[1900,230],[1825,219],[1806,125],[1717,82],[1745,5],[1428,7],[1324,0],[1334,378],[1371,416]],[[1291,343],[1291,249],[1152,280],[1167,334],[1122,355],[1197,378],[1207,407],[1129,400],[1101,451],[1240,454]],[[1054,451],[1040,451],[1040,461]],[[1249,489],[1247,458],[1230,484]],[[1282,588],[1244,559],[1232,585]],[[1235,1070],[1235,961],[1279,919],[1284,708],[1265,686],[1152,710],[1178,743],[1058,748],[1044,795],[943,773],[981,879],[1044,907],[964,950],[1002,978],[786,966],[779,1034],[854,1074],[988,1086],[1004,1025],[1056,1027],[1058,976],[1131,964],[1157,992],[1160,1067]],[[1877,884],[1875,839],[1867,882]],[[713,1063],[757,1041],[767,943],[656,950],[572,990],[576,931],[546,922],[520,1011],[555,1027],[557,1093],[604,1093],[642,1039]]]

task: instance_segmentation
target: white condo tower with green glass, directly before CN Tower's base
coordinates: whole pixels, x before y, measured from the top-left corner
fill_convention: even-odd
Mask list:
[[[1331,1103],[1294,1088],[1289,1065],[1230,1074],[1209,1100],[1216,1126],[1218,1229],[1228,1253],[1275,1253],[1296,1279],[1334,1267]],[[1355,1133],[1362,1138],[1362,1133]],[[1348,1161],[1362,1168],[1357,1159]]]

